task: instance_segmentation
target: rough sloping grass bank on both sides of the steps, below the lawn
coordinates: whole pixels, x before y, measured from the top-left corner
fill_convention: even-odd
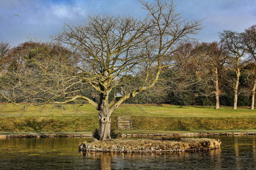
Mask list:
[[[130,116],[133,130],[209,131],[256,129],[256,118]],[[98,116],[0,117],[0,132],[91,132]],[[116,128],[116,116],[112,116]]]

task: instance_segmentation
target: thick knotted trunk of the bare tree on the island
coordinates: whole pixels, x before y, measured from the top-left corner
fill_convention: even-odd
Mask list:
[[[110,137],[110,123],[111,111],[109,110],[108,103],[102,102],[99,108],[99,140],[108,140]]]

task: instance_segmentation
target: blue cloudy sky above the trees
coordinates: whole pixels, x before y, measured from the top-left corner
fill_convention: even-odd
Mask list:
[[[223,30],[242,32],[256,24],[256,0],[176,0],[184,18],[204,19],[195,38],[218,41]],[[138,0],[0,0],[0,42],[11,46],[36,38],[50,40],[64,23],[82,24],[88,15],[145,16]],[[19,16],[17,16],[17,15]]]

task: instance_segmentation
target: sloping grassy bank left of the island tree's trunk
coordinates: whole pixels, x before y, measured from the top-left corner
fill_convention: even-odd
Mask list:
[[[82,132],[93,131],[97,126],[97,116],[0,118],[0,132]]]

